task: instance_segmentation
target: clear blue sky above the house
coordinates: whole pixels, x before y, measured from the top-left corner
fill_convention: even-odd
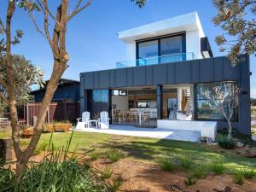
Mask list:
[[[7,0],[0,0],[0,17],[4,19]],[[76,2],[77,0],[72,0]],[[59,0],[49,0],[55,12]],[[70,9],[73,9],[72,4]],[[77,15],[67,26],[67,52],[69,61],[62,78],[79,80],[79,73],[115,68],[117,61],[125,61],[125,43],[119,41],[117,32],[150,22],[197,11],[203,30],[212,46],[214,56],[224,55],[218,51],[214,37],[222,33],[212,23],[217,10],[212,0],[148,0],[143,9],[138,9],[130,0],[94,0],[88,9]],[[43,15],[35,15],[39,25]],[[44,71],[49,79],[53,56],[46,39],[37,31],[28,15],[17,9],[12,21],[13,30],[21,29],[25,35],[12,51],[25,55],[35,66]],[[256,58],[251,56],[251,97],[256,98]]]

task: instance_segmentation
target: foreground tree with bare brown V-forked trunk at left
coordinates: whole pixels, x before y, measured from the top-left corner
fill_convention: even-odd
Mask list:
[[[85,2],[84,0],[78,0],[73,10],[69,10],[70,0],[59,0],[59,6],[56,8],[55,14],[49,9],[48,0],[9,0],[7,15],[6,15],[6,24],[3,25],[1,22],[2,32],[5,35],[6,47],[6,82],[3,79],[0,79],[0,84],[3,85],[8,94],[8,103],[11,113],[11,127],[12,127],[12,140],[15,148],[16,154],[16,172],[17,178],[20,178],[22,171],[26,169],[28,160],[33,154],[33,151],[38,145],[38,141],[41,137],[41,133],[44,128],[44,119],[46,115],[47,108],[49,103],[57,89],[57,84],[61,75],[67,69],[67,61],[69,55],[66,48],[66,32],[67,32],[67,23],[72,20],[75,15],[78,15],[84,9],[90,6],[93,0]],[[146,0],[131,0],[135,2],[138,7],[142,8]],[[15,40],[11,39],[11,20],[15,13],[16,3],[20,8],[25,9],[30,17],[32,18],[33,23],[35,24],[38,32],[40,32],[44,38],[47,39],[51,52],[53,54],[53,69],[49,79],[49,83],[46,87],[46,92],[44,95],[44,100],[41,104],[40,111],[38,113],[38,120],[34,127],[34,135],[26,149],[20,148],[20,125],[18,124],[17,118],[17,108],[16,108],[16,96],[15,96],[15,73],[14,66],[11,58],[11,44],[15,43],[15,40],[20,41],[22,33],[20,31],[16,32]],[[52,7],[52,6],[50,6]],[[38,25],[38,22],[33,16],[33,11],[40,11],[43,13],[44,18],[44,30]],[[70,14],[69,14],[70,13]],[[52,22],[53,29],[49,30],[49,23]],[[1,47],[0,47],[1,49]]]

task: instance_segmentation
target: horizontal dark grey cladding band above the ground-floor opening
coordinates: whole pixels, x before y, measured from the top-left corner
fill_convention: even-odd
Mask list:
[[[157,84],[193,84],[200,82],[240,81],[240,73],[248,77],[243,69],[248,61],[231,67],[225,57],[194,61],[173,62],[145,67],[127,67],[89,73],[84,76],[84,89],[107,89],[126,86]]]

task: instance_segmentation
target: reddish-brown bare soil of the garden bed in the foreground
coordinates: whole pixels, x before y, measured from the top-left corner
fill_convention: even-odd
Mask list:
[[[103,168],[107,166],[104,161],[96,161],[95,166]],[[211,175],[205,179],[200,179],[195,185],[186,186],[184,184],[185,173],[183,172],[164,172],[159,166],[153,164],[145,164],[134,160],[124,159],[116,163],[108,164],[115,175],[124,178],[124,183],[120,191],[124,192],[166,192],[181,191],[172,190],[171,185],[176,184],[182,191],[199,190],[201,192],[212,192],[213,189],[224,191],[226,186],[230,186],[232,192],[256,192],[256,179],[246,180],[240,186],[233,182],[233,177],[229,175],[215,176]]]

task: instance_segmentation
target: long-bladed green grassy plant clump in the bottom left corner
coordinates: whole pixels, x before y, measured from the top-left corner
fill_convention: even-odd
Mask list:
[[[0,169],[0,191],[91,191],[107,192],[112,186],[97,177],[96,171],[74,158],[67,146],[51,151],[38,163],[31,162],[15,185],[15,173],[10,168]],[[50,143],[49,143],[50,145]]]

